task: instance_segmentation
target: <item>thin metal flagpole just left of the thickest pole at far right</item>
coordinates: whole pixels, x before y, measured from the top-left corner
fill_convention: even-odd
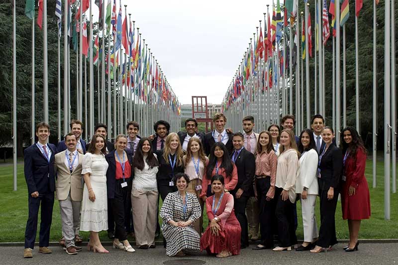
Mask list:
[[[376,157],[377,157],[377,49],[376,49],[376,0],[373,0],[373,154],[372,175],[373,187],[376,187]]]

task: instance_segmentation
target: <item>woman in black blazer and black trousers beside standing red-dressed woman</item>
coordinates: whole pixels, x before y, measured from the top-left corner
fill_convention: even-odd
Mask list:
[[[324,127],[322,139],[325,147],[321,149],[318,161],[318,187],[320,198],[319,238],[311,253],[329,250],[337,244],[334,214],[339,194],[339,182],[343,169],[341,150],[332,144],[334,132],[331,127]]]

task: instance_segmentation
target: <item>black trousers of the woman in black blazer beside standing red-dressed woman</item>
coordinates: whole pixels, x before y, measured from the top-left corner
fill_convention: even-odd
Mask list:
[[[337,199],[339,192],[335,188],[333,199],[327,199],[327,189],[319,189],[320,197],[320,228],[319,239],[316,245],[322,248],[337,244],[336,239],[336,225],[334,215],[336,213]]]

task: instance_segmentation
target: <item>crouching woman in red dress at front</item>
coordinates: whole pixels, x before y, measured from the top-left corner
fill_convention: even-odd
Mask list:
[[[207,197],[207,217],[210,221],[200,238],[200,250],[225,258],[240,253],[241,228],[233,210],[233,196],[224,192],[224,177],[211,177],[214,195]]]

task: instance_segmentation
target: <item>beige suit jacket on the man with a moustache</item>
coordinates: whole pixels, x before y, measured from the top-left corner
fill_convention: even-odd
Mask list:
[[[78,152],[79,163],[72,171],[65,165],[66,150],[55,155],[54,169],[57,174],[56,198],[57,200],[66,200],[71,192],[71,199],[81,201],[83,199],[83,175],[82,161],[84,155]]]

